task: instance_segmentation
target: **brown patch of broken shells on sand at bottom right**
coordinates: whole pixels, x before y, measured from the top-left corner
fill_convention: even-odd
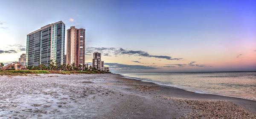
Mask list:
[[[160,96],[171,100],[175,105],[191,108],[192,112],[184,113],[177,119],[256,119],[256,115],[244,107],[221,100],[183,99]]]

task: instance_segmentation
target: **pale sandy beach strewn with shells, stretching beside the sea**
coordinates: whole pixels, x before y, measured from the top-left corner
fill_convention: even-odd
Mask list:
[[[256,102],[118,74],[0,76],[0,119],[256,119]]]

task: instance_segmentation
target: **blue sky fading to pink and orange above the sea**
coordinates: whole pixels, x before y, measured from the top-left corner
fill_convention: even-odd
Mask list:
[[[0,11],[0,50],[15,50],[0,52],[0,62],[17,61],[27,34],[62,20],[86,29],[88,50],[116,73],[256,70],[253,0],[0,0]],[[120,48],[181,59],[115,54]]]

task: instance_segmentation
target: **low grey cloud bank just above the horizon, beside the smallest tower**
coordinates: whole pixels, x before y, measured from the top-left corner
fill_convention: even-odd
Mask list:
[[[104,63],[110,67],[110,69],[115,70],[154,70],[158,69],[156,67],[151,66],[143,66],[143,65],[128,65],[128,64],[119,64],[119,63]]]

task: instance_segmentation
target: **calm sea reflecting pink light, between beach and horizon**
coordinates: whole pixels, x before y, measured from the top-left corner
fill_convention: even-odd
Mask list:
[[[195,93],[256,100],[256,72],[133,73],[127,78],[151,81]]]

